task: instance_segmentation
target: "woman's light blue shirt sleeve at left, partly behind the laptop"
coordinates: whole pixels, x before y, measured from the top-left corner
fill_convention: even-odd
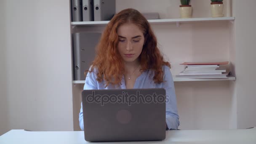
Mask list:
[[[90,69],[91,70],[91,69]],[[85,85],[83,87],[84,90],[95,90],[98,89],[97,81],[96,81],[96,72],[95,69],[93,72],[88,72],[85,78]],[[81,130],[84,131],[83,126],[83,106],[81,102],[81,109],[79,113],[79,125]]]

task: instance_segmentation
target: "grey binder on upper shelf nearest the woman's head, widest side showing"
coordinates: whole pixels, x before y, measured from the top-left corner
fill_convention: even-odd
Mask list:
[[[115,0],[93,0],[94,21],[109,21],[115,15]]]

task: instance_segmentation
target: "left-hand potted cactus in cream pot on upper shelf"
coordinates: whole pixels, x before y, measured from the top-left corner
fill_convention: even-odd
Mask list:
[[[179,6],[181,18],[191,18],[192,17],[192,6],[189,5],[190,0],[181,0],[181,5]]]

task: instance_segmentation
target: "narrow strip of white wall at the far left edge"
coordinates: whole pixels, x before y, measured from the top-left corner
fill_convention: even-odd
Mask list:
[[[9,130],[6,82],[6,0],[0,0],[0,135]]]

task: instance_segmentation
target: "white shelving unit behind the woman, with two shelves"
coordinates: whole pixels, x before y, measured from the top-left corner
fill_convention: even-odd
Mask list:
[[[226,1],[227,2],[227,1]],[[233,75],[227,78],[180,78],[175,74],[183,70],[179,63],[184,61],[229,61],[230,65],[225,66],[233,73],[235,63],[235,17],[211,17],[210,4],[207,1],[195,0],[193,5],[203,7],[195,8],[193,17],[189,19],[179,18],[179,1],[163,0],[161,3],[147,0],[117,0],[117,12],[125,8],[135,8],[142,12],[160,13],[162,19],[150,19],[149,24],[160,40],[165,56],[172,62],[173,81],[175,83],[177,104],[181,117],[181,129],[207,129],[207,128],[229,128],[232,124],[235,80]],[[148,8],[154,8],[148,11]],[[232,5],[225,5],[228,10],[233,10]],[[163,10],[164,9],[164,10]],[[234,16],[233,13],[224,11],[224,16]],[[103,32],[109,21],[77,21],[70,22],[71,33],[76,32]],[[162,27],[163,26],[163,27]],[[183,37],[184,36],[184,37]],[[215,39],[216,37],[216,39]],[[182,43],[180,39],[187,39]],[[177,41],[176,41],[177,40]],[[202,42],[202,45],[200,43]],[[219,40],[219,44],[214,45]],[[173,43],[174,42],[174,43]],[[207,43],[209,46],[207,47]],[[168,47],[170,44],[170,48]],[[214,46],[213,46],[214,45]],[[179,50],[180,46],[180,50]],[[214,49],[216,46],[216,49]],[[176,55],[177,53],[177,55]],[[202,57],[198,53],[202,53]],[[209,56],[209,57],[207,57]],[[198,59],[201,58],[201,59]],[[235,73],[235,72],[234,72]],[[75,130],[80,130],[77,112],[80,110],[81,91],[85,80],[73,80],[73,113]],[[221,99],[221,100],[220,100]],[[216,107],[217,106],[217,107]],[[222,120],[214,119],[213,115],[219,115]],[[202,119],[202,117],[206,117]],[[195,123],[196,125],[189,125]],[[215,125],[212,125],[214,123]]]

